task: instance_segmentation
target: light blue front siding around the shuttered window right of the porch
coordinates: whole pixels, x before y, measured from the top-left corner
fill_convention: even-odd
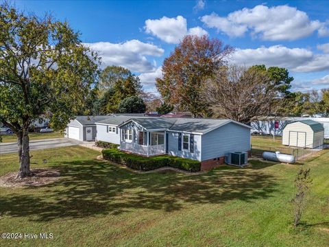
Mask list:
[[[201,135],[194,134],[194,152],[191,153],[188,150],[178,150],[178,132],[168,133],[168,153],[173,156],[179,156],[182,158],[192,158],[197,161],[201,161]]]

